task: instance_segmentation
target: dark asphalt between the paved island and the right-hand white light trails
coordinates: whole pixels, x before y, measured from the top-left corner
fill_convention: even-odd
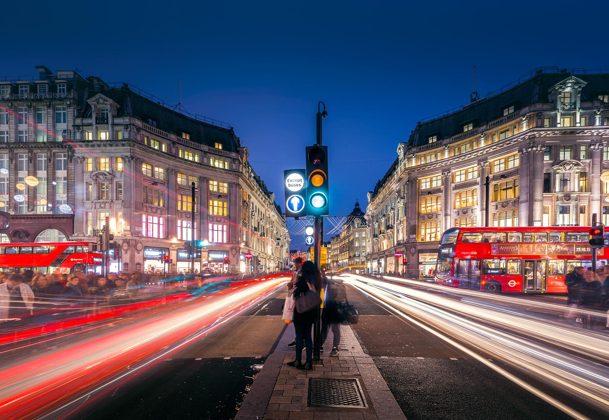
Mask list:
[[[347,296],[358,309],[359,322],[353,328],[362,348],[373,357],[408,420],[571,418],[348,285]],[[518,369],[494,362],[580,413],[604,418]]]

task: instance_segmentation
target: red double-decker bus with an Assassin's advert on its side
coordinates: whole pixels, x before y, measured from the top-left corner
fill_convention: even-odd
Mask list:
[[[440,240],[435,283],[490,293],[566,293],[565,276],[591,267],[590,228],[452,228]],[[599,249],[597,265],[609,250]]]

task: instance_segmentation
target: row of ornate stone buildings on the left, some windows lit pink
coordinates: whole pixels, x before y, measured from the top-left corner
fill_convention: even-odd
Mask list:
[[[12,214],[1,240],[94,242],[108,220],[113,270],[162,269],[163,253],[185,270],[193,234],[210,243],[197,270],[286,268],[286,221],[232,127],[124,83],[37,69],[0,82],[0,207]],[[28,175],[38,185],[18,189]]]

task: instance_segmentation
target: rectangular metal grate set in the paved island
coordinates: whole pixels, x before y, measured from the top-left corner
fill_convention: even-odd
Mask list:
[[[308,405],[366,408],[366,400],[356,378],[311,378]]]

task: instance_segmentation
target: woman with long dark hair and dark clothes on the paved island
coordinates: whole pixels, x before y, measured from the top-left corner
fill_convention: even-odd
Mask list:
[[[301,295],[304,295],[308,290],[314,293],[318,293],[322,285],[322,276],[311,261],[306,261],[300,273],[298,273],[298,280],[294,285],[294,299],[298,299]],[[311,338],[311,330],[313,323],[315,322],[315,316],[317,315],[317,307],[306,312],[298,312],[294,310],[294,329],[296,331],[296,357],[294,362],[287,363],[288,366],[294,366],[298,369],[312,370],[313,362],[313,340]],[[301,362],[303,347],[306,347],[306,361],[305,364]]]

